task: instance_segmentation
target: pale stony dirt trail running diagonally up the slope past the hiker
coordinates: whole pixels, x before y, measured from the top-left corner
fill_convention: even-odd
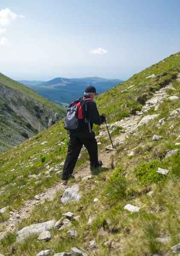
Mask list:
[[[178,76],[180,79],[180,76]],[[130,136],[136,131],[137,122],[142,117],[143,114],[147,113],[148,110],[151,107],[158,108],[158,105],[168,97],[166,93],[166,89],[173,89],[171,83],[168,84],[166,87],[161,88],[159,91],[155,92],[151,99],[147,100],[145,102],[145,105],[142,107],[142,111],[136,111],[136,115],[131,115],[130,117],[125,117],[124,119],[117,121],[115,123],[112,123],[108,125],[110,133],[116,128],[116,127],[122,127],[122,133],[118,135],[117,137],[113,138],[113,144],[122,144],[126,137]],[[100,137],[104,136],[105,138],[108,138],[107,129],[105,126],[102,125],[102,130],[99,133],[99,136],[97,136],[97,140],[99,140]],[[100,144],[100,143],[99,143]],[[113,151],[112,148],[109,150],[101,149],[99,150],[99,160],[102,160],[103,167],[109,168],[111,165],[110,157],[115,153],[116,151]],[[90,168],[89,168],[89,161],[87,161],[83,166],[77,167],[74,170],[75,177],[85,177],[87,175],[90,175]],[[63,183],[60,183],[52,188],[49,188],[46,190],[46,192],[39,194],[39,197],[41,198],[41,201],[32,199],[25,202],[25,205],[19,210],[14,211],[12,215],[10,216],[9,220],[3,222],[3,226],[5,227],[5,230],[3,232],[0,232],[0,240],[3,239],[4,236],[6,236],[6,233],[8,231],[12,231],[15,229],[16,225],[22,221],[24,218],[29,218],[31,211],[33,207],[35,207],[37,204],[43,204],[44,201],[52,201],[55,193],[58,190],[65,190],[67,188],[67,185],[64,185]]]

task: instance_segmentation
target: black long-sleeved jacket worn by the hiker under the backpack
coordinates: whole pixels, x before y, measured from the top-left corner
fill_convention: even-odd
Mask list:
[[[87,95],[84,95],[84,98],[89,99],[90,97]],[[67,134],[70,134],[75,137],[80,137],[80,138],[95,137],[95,133],[92,131],[93,124],[101,125],[105,121],[105,117],[99,115],[96,102],[94,102],[93,100],[87,100],[86,105],[87,105],[87,117],[90,119],[90,127],[89,127],[89,124],[86,123],[84,130],[81,130],[81,131],[67,130]]]

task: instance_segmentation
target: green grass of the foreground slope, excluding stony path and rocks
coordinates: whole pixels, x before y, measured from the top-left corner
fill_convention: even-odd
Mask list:
[[[158,89],[160,85],[174,79],[174,72],[180,71],[180,57],[172,55],[164,61],[165,63],[160,62],[133,76],[123,84],[110,89],[104,95],[98,96],[99,108],[102,108],[102,112],[109,112],[109,121],[121,119],[119,111],[126,115],[130,113],[126,107],[127,102],[130,102],[127,104],[128,107],[131,105],[131,108],[136,109],[137,105],[134,99],[141,95],[142,91],[146,90],[150,96],[152,87]],[[145,76],[152,73],[158,75],[163,72],[167,72],[167,74],[161,76],[159,80],[157,78],[150,81],[145,79]],[[172,83],[176,90],[169,90],[169,95],[179,96],[180,83],[177,80]],[[135,86],[125,93],[120,93],[121,90],[132,84]],[[134,88],[137,90],[134,91]],[[110,100],[113,100],[115,107],[112,106]],[[120,104],[123,100],[125,102]],[[103,108],[104,106],[105,108]],[[138,106],[138,108],[140,107]],[[62,206],[59,203],[59,195],[62,195],[63,192],[59,191],[54,201],[35,207],[31,217],[22,221],[17,227],[19,230],[32,223],[48,221],[53,218],[58,220],[63,213],[71,211],[75,215],[80,215],[78,221],[73,221],[72,224],[72,228],[78,231],[77,238],[68,239],[67,230],[52,231],[52,240],[48,243],[37,242],[37,236],[31,236],[27,246],[27,241],[23,244],[15,243],[15,233],[9,233],[7,238],[0,243],[0,252],[7,256],[30,256],[46,249],[53,249],[54,252],[70,251],[70,247],[73,246],[87,250],[89,241],[93,239],[96,239],[97,248],[99,248],[96,255],[100,256],[148,256],[155,252],[171,252],[170,247],[180,242],[180,154],[167,160],[164,160],[164,155],[168,150],[179,148],[179,145],[175,145],[178,142],[175,139],[180,135],[180,119],[168,119],[170,112],[176,108],[180,108],[180,102],[168,99],[160,105],[157,111],[151,108],[150,113],[160,113],[160,116],[148,125],[139,127],[140,132],[127,138],[124,144],[119,145],[117,153],[112,159],[112,169],[106,172],[102,170],[98,177],[95,176],[93,180],[84,183],[78,180],[82,192],[80,202]],[[158,129],[154,124],[163,117],[165,117],[165,125]],[[173,131],[169,129],[171,125],[174,126]],[[60,134],[61,132],[62,134]],[[153,143],[154,134],[163,136],[163,140]],[[64,148],[59,147],[57,143],[65,142],[65,137],[66,132],[63,130],[62,122],[59,122],[0,156],[0,189],[6,191],[0,196],[0,206],[9,205],[8,212],[11,209],[18,209],[23,204],[22,199],[32,198],[38,192],[43,191],[45,187],[51,187],[58,182],[59,178],[55,174],[52,173],[50,178],[46,178],[43,174],[41,180],[44,183],[41,186],[35,186],[35,180],[30,180],[27,175],[46,171],[44,164],[41,164],[39,160],[40,154],[43,152],[42,149],[45,147],[49,149],[49,152],[43,153],[46,155],[45,163],[52,162],[50,164],[52,167],[63,161],[67,143],[64,144]],[[48,141],[48,144],[41,146],[40,144],[44,140]],[[138,145],[141,146],[135,150],[135,155],[131,158],[127,157],[127,151],[124,149],[129,148],[131,151]],[[33,160],[31,157],[37,157],[33,166],[31,166]],[[84,156],[78,161],[78,165],[82,165],[86,159],[88,156],[84,153]],[[22,161],[21,166],[20,160]],[[116,167],[114,167],[115,162]],[[167,177],[157,174],[157,167],[170,170]],[[9,172],[11,169],[15,169],[15,171]],[[128,176],[125,178],[126,174]],[[18,178],[22,175],[23,177]],[[93,182],[94,180],[99,180],[100,183],[96,184]],[[75,182],[77,181],[71,180],[69,185],[71,186]],[[8,183],[16,184],[6,187]],[[23,189],[17,188],[24,184],[26,186]],[[30,187],[33,189],[29,190]],[[154,195],[146,195],[150,190],[154,191]],[[94,204],[94,198],[99,198],[99,202]],[[124,210],[125,204],[133,204],[142,209],[139,212],[130,213]],[[8,212],[0,215],[2,230],[4,228],[3,221],[9,218]],[[92,216],[94,217],[93,223],[88,226],[88,218]],[[169,218],[170,216],[171,218]],[[157,241],[159,236],[168,236],[170,240],[167,244],[162,245]],[[109,239],[113,240],[113,247],[104,245],[105,241]],[[134,243],[134,241],[136,242]]]

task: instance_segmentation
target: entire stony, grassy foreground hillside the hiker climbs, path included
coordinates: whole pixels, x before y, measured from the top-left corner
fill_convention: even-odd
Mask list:
[[[95,127],[103,168],[90,173],[82,149],[75,180],[61,183],[68,145],[62,121],[0,154],[3,255],[180,253],[180,52],[96,102],[116,144],[107,147],[105,126]],[[64,204],[72,190],[77,201]],[[39,237],[40,230],[50,234]]]

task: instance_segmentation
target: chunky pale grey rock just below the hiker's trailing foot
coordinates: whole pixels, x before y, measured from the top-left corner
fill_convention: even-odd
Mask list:
[[[70,201],[79,201],[81,198],[81,193],[79,191],[78,185],[74,185],[71,188],[67,188],[61,197],[61,203],[67,204]]]

